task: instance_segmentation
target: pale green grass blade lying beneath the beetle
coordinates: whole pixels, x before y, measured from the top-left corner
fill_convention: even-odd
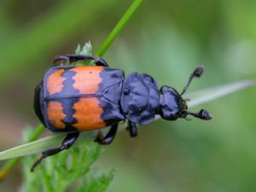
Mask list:
[[[195,107],[201,103],[210,102],[221,96],[226,96],[238,90],[245,89],[249,86],[252,86],[253,84],[254,82],[252,80],[245,80],[231,84],[219,85],[217,87],[212,87],[207,90],[196,91],[195,93],[187,95],[188,98],[192,99],[189,102],[189,107]],[[0,160],[7,160],[14,157],[35,154],[49,148],[54,148],[60,145],[63,137],[65,137],[65,135],[63,134],[54,134],[32,143],[26,143],[15,148],[10,148],[6,151],[0,152]],[[79,139],[93,139],[95,137],[96,131],[85,131],[81,134],[81,137],[79,137]]]

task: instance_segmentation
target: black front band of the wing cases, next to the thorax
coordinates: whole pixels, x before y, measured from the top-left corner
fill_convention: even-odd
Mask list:
[[[102,96],[97,96],[100,101],[100,107],[103,109],[101,118],[106,125],[114,125],[125,119],[119,107],[124,72],[105,67],[100,73],[100,77],[102,82],[99,84],[99,90],[96,94],[102,94]]]

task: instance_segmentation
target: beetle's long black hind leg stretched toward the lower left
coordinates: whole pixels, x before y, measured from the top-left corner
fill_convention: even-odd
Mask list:
[[[79,132],[68,133],[67,137],[65,137],[63,142],[61,143],[61,147],[49,149],[42,153],[42,156],[32,165],[31,172],[33,172],[36,166],[38,166],[38,164],[42,160],[44,160],[46,157],[49,157],[54,154],[58,154],[62,150],[70,148],[73,145],[73,143],[75,143],[78,137],[79,137]]]

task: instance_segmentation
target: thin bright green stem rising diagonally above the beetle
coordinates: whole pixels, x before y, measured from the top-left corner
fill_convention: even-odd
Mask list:
[[[123,17],[119,20],[118,24],[113,28],[113,31],[110,32],[110,34],[108,35],[108,38],[106,38],[102,46],[100,46],[100,48],[96,52],[96,56],[102,56],[106,52],[109,46],[113,43],[113,40],[119,35],[119,33],[128,23],[128,21],[131,19],[131,16],[136,12],[136,10],[142,3],[143,0],[135,0],[131,4],[130,8],[127,9],[127,11],[125,12],[125,15],[123,15]]]

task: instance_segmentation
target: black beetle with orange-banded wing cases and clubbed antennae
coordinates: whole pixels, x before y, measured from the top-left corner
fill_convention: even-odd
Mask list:
[[[95,61],[95,66],[78,66],[76,61]],[[201,109],[188,111],[183,94],[192,79],[201,77],[204,67],[196,67],[188,83],[179,94],[170,86],[158,88],[148,74],[131,73],[127,77],[122,70],[108,67],[107,61],[92,55],[58,55],[54,63],[69,63],[49,68],[43,81],[35,89],[34,110],[38,119],[54,132],[65,132],[67,137],[61,147],[42,153],[32,166],[32,171],[44,158],[70,148],[81,131],[111,126],[103,136],[99,131],[95,141],[109,144],[118,130],[120,121],[127,119],[131,137],[137,136],[137,125],[148,125],[156,114],[166,120],[187,119],[192,115],[199,119],[212,119]]]

